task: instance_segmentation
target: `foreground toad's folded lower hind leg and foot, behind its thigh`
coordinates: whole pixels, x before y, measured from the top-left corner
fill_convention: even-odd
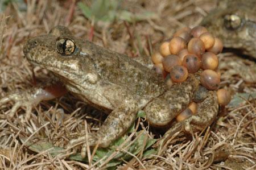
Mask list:
[[[185,119],[184,121],[176,123],[164,134],[163,138],[159,140],[159,151],[162,150],[164,144],[171,138],[176,132],[189,133],[202,131],[204,128],[210,126],[216,119],[218,113],[218,100],[216,92],[208,92],[207,98],[203,102],[199,103],[199,109],[196,115]]]

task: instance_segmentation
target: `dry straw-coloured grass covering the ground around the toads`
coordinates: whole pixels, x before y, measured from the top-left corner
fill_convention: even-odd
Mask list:
[[[75,36],[92,39],[106,48],[135,57],[149,55],[151,50],[148,44],[157,47],[177,28],[196,26],[215,5],[216,2],[208,0],[126,1],[123,4],[126,9],[134,13],[152,11],[157,18],[132,24],[115,22],[105,28],[96,25],[92,36],[92,22],[84,18],[73,1],[27,1],[27,10],[22,10],[15,3],[10,4],[3,12],[5,15],[1,14],[0,17],[0,98],[31,88],[34,81],[32,72],[37,81],[48,77],[46,70],[32,68],[28,64],[23,57],[22,45],[30,36],[44,34],[57,24],[68,26]],[[221,55],[220,62],[228,62],[233,57],[229,53]],[[243,59],[237,60],[243,62]],[[221,72],[225,73],[228,69],[228,66],[223,67]],[[233,94],[256,92],[255,84],[247,84],[241,77],[230,75],[222,78],[222,87],[230,89]],[[97,131],[106,116],[93,111],[71,95],[40,103],[29,121],[24,118],[22,109],[13,119],[7,119],[6,114],[11,106],[13,103],[1,106],[0,110],[1,169],[105,169],[114,155],[127,152],[127,148],[119,148],[101,164],[68,160],[63,155],[52,157],[47,151],[36,154],[28,150],[22,140],[46,138],[55,146],[65,147],[75,136]],[[142,159],[141,153],[129,153],[133,159],[124,161],[118,168],[255,169],[255,107],[255,101],[246,101],[239,107],[222,108],[216,123],[203,133],[195,134],[193,139],[174,136],[163,155],[152,155],[150,159]],[[137,125],[143,129],[143,124],[138,122]],[[149,138],[155,135],[151,131],[149,134]],[[92,157],[94,152],[91,153]],[[228,153],[228,159],[214,162],[214,155],[220,157],[225,153]]]

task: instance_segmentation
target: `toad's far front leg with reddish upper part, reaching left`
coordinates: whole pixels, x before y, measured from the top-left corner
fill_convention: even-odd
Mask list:
[[[61,84],[54,84],[46,88],[35,87],[24,92],[9,94],[0,99],[0,107],[5,103],[14,102],[14,106],[9,113],[9,118],[13,118],[20,107],[26,107],[26,118],[30,119],[32,108],[38,105],[40,101],[53,99],[65,93],[66,90]]]

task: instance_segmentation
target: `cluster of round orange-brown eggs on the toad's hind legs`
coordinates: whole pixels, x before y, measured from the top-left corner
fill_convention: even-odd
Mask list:
[[[156,72],[166,77],[167,85],[185,81],[188,73],[200,73],[201,85],[208,90],[217,90],[221,76],[217,71],[217,55],[222,49],[221,40],[210,34],[207,28],[185,27],[175,32],[170,41],[163,42],[159,52],[155,52],[151,59]],[[218,90],[217,96],[220,105],[227,105],[230,101],[230,95],[225,89]],[[182,121],[193,113],[196,113],[195,102],[192,102],[176,119]]]

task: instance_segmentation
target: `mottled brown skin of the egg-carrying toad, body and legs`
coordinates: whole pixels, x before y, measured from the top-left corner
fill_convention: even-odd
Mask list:
[[[71,40],[76,45],[75,51],[69,55],[59,53],[61,50],[56,49],[59,48],[56,43],[60,39],[61,42],[63,39]],[[89,134],[89,146],[95,146],[99,141],[100,147],[108,147],[126,132],[139,110],[146,111],[146,117],[152,126],[166,126],[189,105],[199,88],[199,79],[191,74],[187,81],[169,89],[162,76],[144,66],[147,64],[138,63],[126,55],[92,42],[74,38],[67,28],[61,26],[53,28],[48,35],[28,40],[23,52],[31,64],[51,71],[56,77],[55,82],[60,81],[68,92],[106,113],[110,112],[97,133]],[[0,100],[0,106],[14,101],[16,104],[11,114],[18,107],[25,106],[29,109],[29,118],[32,106],[44,99],[54,98],[47,95],[45,88],[40,86],[7,96]],[[209,92],[200,105],[199,114],[192,115],[176,126],[187,132],[202,130],[214,121],[217,110],[216,93]],[[176,131],[176,126],[174,130],[171,128],[167,131],[163,139],[170,138]],[[85,142],[85,136],[71,140],[68,148],[80,142]],[[82,156],[85,153],[84,144]]]

